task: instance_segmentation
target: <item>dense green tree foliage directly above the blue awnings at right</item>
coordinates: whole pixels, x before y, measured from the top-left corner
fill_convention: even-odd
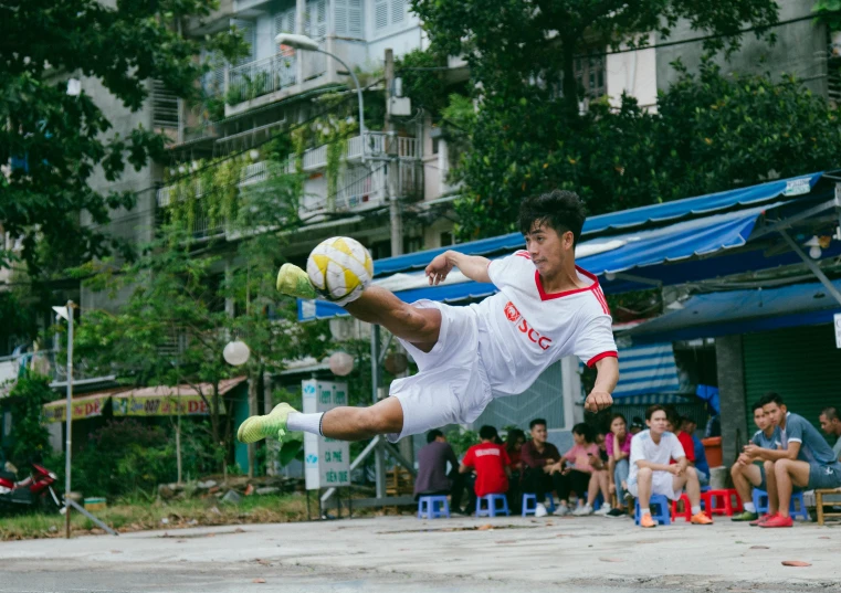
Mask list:
[[[513,232],[521,200],[577,191],[590,214],[751,186],[832,168],[841,159],[838,113],[791,77],[723,76],[711,61],[646,113],[631,97],[582,116],[536,97],[487,97],[471,127],[456,203],[463,239]],[[503,108],[504,107],[504,108]],[[517,125],[514,123],[517,121]]]

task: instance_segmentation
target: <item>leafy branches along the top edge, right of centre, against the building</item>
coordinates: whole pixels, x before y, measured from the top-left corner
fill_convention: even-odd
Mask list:
[[[667,36],[681,19],[709,35],[705,50],[732,52],[746,24],[772,38],[767,28],[777,22],[774,0],[412,0],[412,8],[439,51],[465,56],[483,95],[516,95],[530,81],[551,84],[560,74],[568,114],[578,110],[575,61],[582,54],[646,45],[650,32]]]

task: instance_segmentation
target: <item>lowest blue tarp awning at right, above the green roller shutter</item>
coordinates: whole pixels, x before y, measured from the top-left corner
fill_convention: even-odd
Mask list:
[[[841,290],[841,280],[832,283]],[[747,331],[831,322],[841,305],[820,283],[696,295],[683,308],[640,324],[633,343],[713,338]]]

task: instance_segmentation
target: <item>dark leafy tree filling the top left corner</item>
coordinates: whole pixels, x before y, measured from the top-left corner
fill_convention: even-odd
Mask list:
[[[196,80],[206,66],[195,60],[201,44],[228,57],[243,54],[240,36],[227,31],[208,40],[186,39],[188,19],[203,19],[217,0],[126,1],[116,8],[98,0],[33,0],[0,4],[0,222],[23,240],[31,275],[60,272],[67,265],[125,246],[97,226],[109,211],[132,208],[127,191],[99,194],[87,181],[101,170],[119,178],[130,165],[139,170],[164,157],[165,139],[138,127],[126,136],[109,134],[112,124],[87,93],[70,96],[66,80],[86,76],[130,110],[158,80],[178,96],[198,93]],[[81,223],[86,212],[91,225]],[[0,266],[12,254],[0,251]]]

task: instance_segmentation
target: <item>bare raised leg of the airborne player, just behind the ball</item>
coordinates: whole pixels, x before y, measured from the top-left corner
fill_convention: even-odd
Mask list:
[[[379,286],[362,290],[359,298],[345,305],[345,310],[360,321],[385,327],[423,352],[432,350],[441,332],[440,310],[412,307]]]

